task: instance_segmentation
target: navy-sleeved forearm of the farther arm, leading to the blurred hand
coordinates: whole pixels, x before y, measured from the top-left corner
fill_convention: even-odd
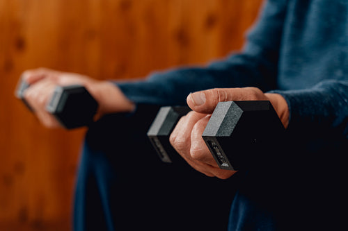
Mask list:
[[[276,56],[276,55],[275,55]],[[207,67],[185,67],[152,74],[137,82],[116,83],[135,103],[184,105],[191,92],[221,87],[276,87],[276,61],[241,53]]]

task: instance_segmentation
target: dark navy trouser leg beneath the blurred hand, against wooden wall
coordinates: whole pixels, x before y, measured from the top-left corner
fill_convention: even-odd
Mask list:
[[[235,178],[159,160],[146,132],[159,107],[90,126],[74,198],[74,230],[226,230]]]

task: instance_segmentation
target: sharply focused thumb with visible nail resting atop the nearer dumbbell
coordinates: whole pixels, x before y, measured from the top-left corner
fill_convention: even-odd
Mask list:
[[[214,88],[189,94],[187,105],[196,112],[212,114],[219,102],[246,100],[267,100],[267,97],[255,87]]]

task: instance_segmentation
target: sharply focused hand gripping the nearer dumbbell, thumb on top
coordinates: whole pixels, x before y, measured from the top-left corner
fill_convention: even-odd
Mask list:
[[[202,134],[217,103],[223,101],[262,101],[272,103],[285,128],[289,123],[287,103],[280,94],[264,94],[255,87],[209,89],[187,96],[187,104],[193,110],[182,117],[173,130],[170,141],[194,169],[207,176],[226,179],[236,171],[219,169],[214,157],[203,141]]]

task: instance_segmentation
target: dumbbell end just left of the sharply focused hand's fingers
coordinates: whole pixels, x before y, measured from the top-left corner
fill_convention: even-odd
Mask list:
[[[190,110],[184,106],[161,107],[152,122],[148,130],[148,137],[163,162],[171,163],[180,160],[180,155],[176,153],[169,142],[169,136],[177,121]]]

